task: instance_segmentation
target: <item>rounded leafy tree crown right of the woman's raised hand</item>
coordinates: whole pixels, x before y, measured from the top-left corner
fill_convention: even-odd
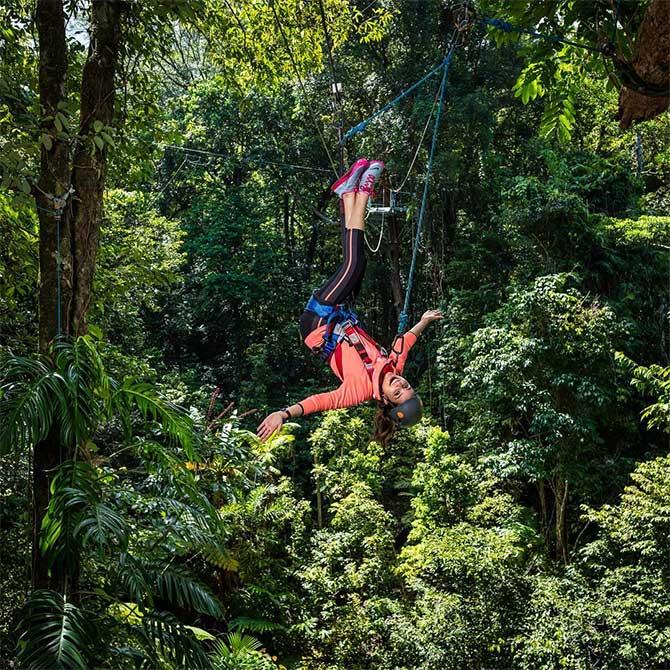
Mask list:
[[[568,288],[568,280],[542,277],[514,292],[491,315],[495,325],[473,335],[462,382],[471,403],[465,435],[506,475],[572,478],[602,444],[617,325],[611,310]]]

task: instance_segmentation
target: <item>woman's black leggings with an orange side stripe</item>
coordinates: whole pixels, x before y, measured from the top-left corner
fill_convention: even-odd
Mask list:
[[[363,231],[357,228],[342,228],[342,251],[344,260],[334,275],[314,295],[324,305],[353,302],[361,290],[365,274],[365,241]],[[300,335],[304,340],[315,328],[323,325],[324,319],[310,310],[300,317]]]

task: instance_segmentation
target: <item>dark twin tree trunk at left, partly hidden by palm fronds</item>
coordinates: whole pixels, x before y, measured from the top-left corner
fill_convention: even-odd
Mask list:
[[[70,138],[59,131],[59,127],[63,127],[62,117],[57,119],[62,113],[59,103],[64,103],[67,96],[63,2],[38,0],[36,7],[41,127],[51,140],[51,146],[43,144],[41,148],[40,176],[35,193],[40,221],[39,343],[42,351],[46,351],[58,334],[59,325],[64,335],[86,332],[107,176],[107,145],[102,150],[95,147],[91,133],[95,121],[107,126],[113,119],[122,5],[108,0],[93,0],[91,5],[90,45],[81,82],[80,127],[72,160],[68,146]],[[74,193],[63,209],[59,199],[69,192],[70,186]],[[60,253],[57,253],[57,247]],[[49,580],[39,536],[49,503],[50,474],[70,456],[61,450],[56,430],[35,445],[32,477],[35,588],[53,586],[64,590],[65,582],[55,584]],[[76,566],[73,572],[76,573]],[[76,574],[72,575],[71,581],[76,584]]]

